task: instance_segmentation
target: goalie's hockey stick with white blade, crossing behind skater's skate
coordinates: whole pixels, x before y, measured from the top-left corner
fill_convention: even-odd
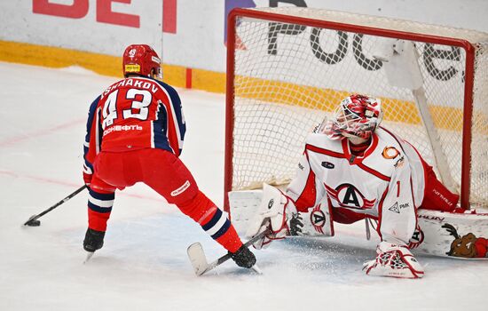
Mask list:
[[[269,229],[264,230],[262,233],[259,235],[254,236],[252,239],[250,239],[248,242],[244,243],[244,246],[249,247],[252,243],[255,243],[256,241],[262,239],[264,235],[267,235],[269,233]],[[207,258],[205,257],[205,252],[203,251],[203,248],[201,247],[201,243],[193,243],[192,245],[188,246],[188,249],[186,251],[188,253],[188,258],[190,259],[190,262],[192,263],[193,270],[195,271],[195,275],[203,275],[207,272],[209,272],[211,269],[214,267],[217,267],[227,261],[228,259],[232,258],[231,253],[227,253],[226,255],[222,256],[219,259],[216,259],[215,261],[208,263]],[[258,274],[262,274],[261,270],[259,267],[254,265],[252,267]]]

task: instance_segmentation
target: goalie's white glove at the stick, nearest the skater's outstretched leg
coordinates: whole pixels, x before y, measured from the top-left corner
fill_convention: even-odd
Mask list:
[[[267,247],[272,240],[285,238],[289,233],[289,220],[296,215],[295,205],[278,188],[263,184],[263,198],[254,219],[250,222],[246,235],[253,237],[264,230],[270,234],[253,243],[256,249]]]

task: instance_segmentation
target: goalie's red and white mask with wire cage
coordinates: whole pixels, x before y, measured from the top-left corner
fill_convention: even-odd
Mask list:
[[[341,101],[323,132],[333,140],[340,140],[344,137],[358,137],[367,140],[381,122],[381,100],[353,94]]]

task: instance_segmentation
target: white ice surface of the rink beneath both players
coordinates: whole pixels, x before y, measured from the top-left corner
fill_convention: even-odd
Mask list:
[[[87,193],[22,224],[83,185],[85,118],[116,79],[80,68],[0,62],[0,310],[487,310],[488,261],[419,256],[421,280],[366,276],[376,241],[364,225],[328,239],[255,251],[264,275],[232,261],[196,277],[186,247],[224,254],[201,227],[145,186],[118,192],[105,246],[83,265]],[[187,132],[182,159],[219,206],[224,95],[178,90]]]

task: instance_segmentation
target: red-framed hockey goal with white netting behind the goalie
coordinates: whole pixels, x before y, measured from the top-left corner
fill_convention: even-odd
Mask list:
[[[287,184],[307,134],[350,93],[382,100],[382,126],[448,175],[462,207],[488,206],[487,34],[297,7],[234,9],[227,34],[226,211],[230,191]],[[377,56],[395,39],[417,55],[415,90]]]

